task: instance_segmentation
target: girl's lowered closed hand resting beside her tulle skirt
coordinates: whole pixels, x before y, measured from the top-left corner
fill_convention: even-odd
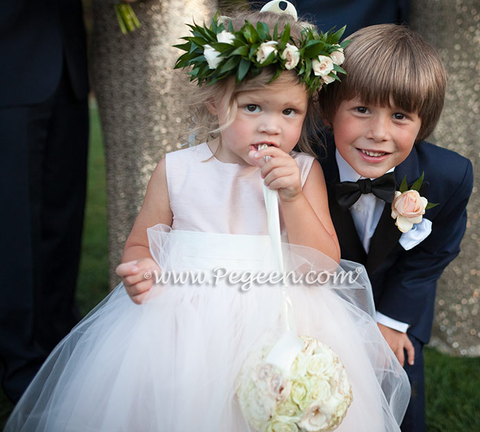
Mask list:
[[[140,305],[155,283],[154,271],[160,272],[157,263],[151,258],[142,258],[122,263],[116,268],[116,274],[122,277],[125,290],[131,301]]]

